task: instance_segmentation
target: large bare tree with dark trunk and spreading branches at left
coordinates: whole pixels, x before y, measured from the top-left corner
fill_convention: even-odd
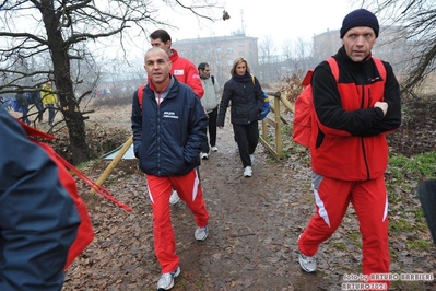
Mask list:
[[[195,1],[196,4],[187,7],[179,0],[163,1],[209,20],[212,19],[204,11],[214,2]],[[156,12],[151,0],[3,0],[0,4],[0,93],[33,91],[47,80],[54,81],[59,110],[69,130],[72,162],[87,161],[85,117],[79,102],[92,90],[79,98],[74,96],[74,86],[82,79],[72,75],[72,63],[87,60],[91,66],[92,56],[86,47],[107,37],[116,37],[118,46],[126,51],[131,28],[137,30],[138,36],[146,37],[151,23],[165,25],[153,18]],[[31,69],[30,62],[38,66]],[[75,63],[75,68],[84,67]]]

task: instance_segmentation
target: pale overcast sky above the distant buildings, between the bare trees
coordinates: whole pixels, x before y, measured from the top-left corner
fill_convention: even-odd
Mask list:
[[[351,7],[349,0],[226,0],[224,7],[231,19],[215,23],[198,23],[188,12],[181,21],[176,15],[172,23],[179,30],[170,31],[173,40],[231,35],[244,30],[259,40],[272,37],[278,45],[299,37],[310,42],[315,34],[341,28],[343,18],[357,8]]]

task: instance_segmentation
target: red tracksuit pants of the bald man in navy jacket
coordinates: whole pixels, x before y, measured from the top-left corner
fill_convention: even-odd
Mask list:
[[[191,210],[196,224],[200,228],[207,226],[209,221],[203,191],[197,170],[177,177],[145,176],[153,208],[154,252],[161,264],[162,273],[170,272],[179,264],[169,210],[169,196],[173,187]]]

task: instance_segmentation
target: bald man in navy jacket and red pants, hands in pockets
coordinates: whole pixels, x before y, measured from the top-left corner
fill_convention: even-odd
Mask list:
[[[131,116],[133,151],[145,173],[153,209],[154,251],[161,265],[157,290],[172,289],[180,273],[169,209],[173,187],[193,214],[197,241],[208,237],[209,221],[197,171],[208,116],[193,91],[169,73],[170,67],[162,48],[146,51],[149,83],[143,89],[142,109],[134,92]]]

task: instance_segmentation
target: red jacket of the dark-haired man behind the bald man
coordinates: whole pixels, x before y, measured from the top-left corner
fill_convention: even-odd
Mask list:
[[[178,81],[190,86],[196,95],[201,98],[204,95],[204,89],[201,84],[200,74],[190,60],[179,57],[177,50],[172,48],[173,54],[169,56],[172,61],[170,73],[174,74]]]

